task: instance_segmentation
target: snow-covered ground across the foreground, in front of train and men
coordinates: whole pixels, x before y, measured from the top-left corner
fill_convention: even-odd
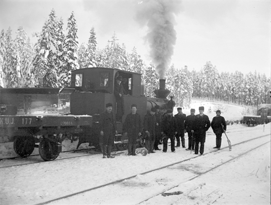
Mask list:
[[[142,204],[208,204],[214,201],[214,204],[270,204],[270,124],[264,128],[263,125],[232,125],[228,127],[227,135],[232,145],[257,136],[267,137],[233,146],[229,151],[223,135],[222,148],[225,149],[210,153],[214,151],[215,135],[209,130],[203,156],[190,154],[184,148],[177,148],[175,153],[157,151],[147,156],[127,156],[126,151],[113,153],[116,154],[114,159],[89,154],[1,168],[0,201],[1,204],[37,204],[135,176],[49,204],[136,204],[172,187],[166,192],[181,191],[182,194],[158,194]],[[265,142],[268,143],[200,175]],[[60,153],[59,158],[68,154],[72,155]],[[191,157],[195,158],[142,174]]]

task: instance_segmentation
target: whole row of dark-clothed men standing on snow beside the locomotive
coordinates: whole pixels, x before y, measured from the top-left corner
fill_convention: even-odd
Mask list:
[[[101,114],[99,125],[100,134],[103,136],[103,158],[114,158],[111,155],[111,147],[114,135],[117,134],[116,119],[112,113],[112,104],[106,105],[106,112]],[[204,115],[204,107],[199,107],[198,115],[195,115],[195,109],[191,109],[191,115],[186,116],[182,108],[177,108],[178,113],[173,116],[172,109],[167,109],[162,115],[159,112],[159,106],[153,107],[149,113],[144,116],[143,123],[141,117],[136,113],[137,105],[131,105],[131,113],[126,116],[123,123],[123,134],[128,135],[128,155],[136,155],[136,142],[138,137],[145,139],[145,148],[148,153],[155,153],[154,150],[160,150],[158,145],[162,140],[163,152],[167,152],[167,142],[170,139],[171,152],[175,152],[176,147],[185,146],[185,133],[188,133],[188,148],[186,150],[195,150],[195,154],[203,155],[206,132],[212,126],[216,134],[216,146],[220,149],[222,133],[226,131],[225,119],[220,116],[221,112],[216,112],[216,117],[210,123],[209,117]],[[143,131],[143,133],[142,133]],[[199,147],[200,146],[200,147]],[[200,149],[199,149],[200,148]]]

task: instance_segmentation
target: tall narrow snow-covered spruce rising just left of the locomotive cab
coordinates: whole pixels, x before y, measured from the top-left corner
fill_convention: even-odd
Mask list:
[[[61,86],[70,86],[71,71],[79,69],[77,24],[73,12],[68,19],[68,33],[63,46],[63,64],[60,70]]]

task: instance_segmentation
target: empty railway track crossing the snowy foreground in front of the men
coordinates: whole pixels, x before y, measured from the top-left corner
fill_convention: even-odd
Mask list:
[[[168,190],[178,186],[179,184],[181,183],[185,183],[187,181],[191,181],[191,180],[194,180],[196,179],[197,177],[199,176],[202,176],[226,163],[229,163],[231,162],[232,160],[235,160],[236,158],[240,157],[240,156],[243,156],[263,145],[265,145],[266,143],[269,143],[270,142],[270,138],[269,138],[269,134],[267,135],[262,135],[262,136],[259,136],[259,137],[256,137],[256,138],[253,138],[253,139],[249,139],[249,140],[245,140],[245,141],[242,141],[242,142],[239,142],[239,143],[236,143],[236,144],[232,144],[232,147],[233,147],[233,150],[240,150],[240,147],[242,144],[244,143],[250,143],[250,149],[249,150],[242,150],[241,152],[237,152],[235,151],[236,153],[233,153],[233,152],[226,152],[228,151],[228,147],[224,147],[222,148],[221,150],[213,150],[213,151],[209,151],[207,153],[205,153],[203,156],[200,156],[200,155],[193,155],[193,157],[190,157],[188,159],[185,159],[185,160],[181,160],[181,161],[178,161],[178,162],[175,162],[175,163],[172,163],[172,164],[167,164],[165,166],[161,166],[161,167],[158,167],[158,168],[155,168],[155,169],[152,169],[152,170],[148,170],[148,171],[145,171],[145,172],[142,172],[142,173],[138,173],[136,175],[132,175],[132,176],[129,176],[129,177],[126,177],[126,178],[122,178],[122,179],[118,179],[118,180],[115,180],[115,181],[111,181],[109,183],[105,183],[105,184],[102,184],[102,185],[99,185],[99,186],[95,186],[95,187],[92,187],[92,188],[88,188],[88,189],[84,189],[82,191],[78,191],[78,192],[74,192],[74,193],[71,193],[71,194],[67,194],[65,196],[61,196],[61,197],[58,197],[58,198],[54,198],[54,199],[51,199],[51,200],[47,200],[47,201],[44,201],[44,202],[41,202],[41,203],[37,203],[37,205],[41,205],[41,204],[66,204],[66,202],[69,202],[70,204],[75,204],[76,203],[76,197],[78,197],[80,194],[84,194],[84,197],[89,200],[90,198],[91,199],[94,199],[95,195],[99,194],[99,198],[107,198],[106,197],[106,193],[107,191],[109,190],[114,190],[114,187],[113,186],[126,186],[125,184],[129,184],[130,181],[132,180],[135,180],[136,178],[138,178],[138,176],[141,176],[141,177],[145,177],[145,178],[148,178],[150,176],[148,176],[149,174],[151,175],[155,175],[159,178],[159,176],[161,176],[163,173],[165,173],[165,170],[166,170],[166,173],[167,173],[167,176],[171,175],[170,174],[170,171],[172,170],[175,170],[175,169],[179,169],[179,170],[183,170],[184,172],[186,172],[186,174],[184,174],[184,178],[182,179],[179,179],[179,180],[176,180],[176,178],[178,176],[176,175],[172,175],[171,178],[174,179],[174,183],[173,184],[170,184],[170,185],[167,185],[165,186],[163,183],[161,183],[161,189],[160,191],[156,191],[155,193],[153,193],[151,190],[149,189],[146,189],[146,186],[148,187],[148,184],[144,184],[144,182],[142,182],[143,184],[139,184],[144,186],[144,189],[142,189],[143,192],[149,192],[149,194],[147,194],[147,196],[137,196],[136,200],[132,200],[131,201],[135,201],[135,203],[133,204],[139,204],[139,203],[142,203],[142,202],[145,202],[159,194],[166,194],[166,192],[168,192]],[[261,140],[259,140],[261,139]],[[260,143],[259,143],[260,141]],[[256,146],[256,147],[255,147]],[[219,162],[218,164],[215,164],[215,165],[211,165],[211,164],[208,164],[208,165],[205,165],[205,167],[201,167],[199,169],[195,169],[194,168],[189,168],[190,164],[192,163],[193,164],[193,161],[197,161],[198,159],[200,159],[201,157],[215,157],[217,158],[218,156],[215,156],[215,155],[219,155],[220,153],[223,153],[223,154],[228,154],[229,157],[226,161],[223,161],[223,162]],[[211,161],[211,160],[210,160]],[[197,164],[197,162],[196,162]],[[155,173],[155,174],[154,174]],[[128,185],[129,186],[129,185]],[[135,188],[135,187],[132,187],[132,188]],[[151,187],[150,187],[151,188]],[[129,190],[125,189],[126,192],[129,192]],[[105,193],[105,194],[103,194]],[[121,195],[122,197],[125,197],[123,196],[122,194],[125,194],[125,193],[116,193],[116,198],[117,198],[117,195]],[[144,195],[144,194],[142,194]],[[130,197],[130,196],[129,196]],[[219,194],[218,194],[218,197],[219,197]],[[109,203],[112,202],[111,201],[112,199],[109,199]],[[89,201],[88,201],[89,202]],[[98,201],[93,201],[91,203],[99,203]],[[105,201],[103,201],[105,202]],[[112,202],[113,204],[115,204],[114,202]],[[86,204],[87,204],[87,201],[86,201]],[[107,202],[105,202],[105,204],[107,204]]]

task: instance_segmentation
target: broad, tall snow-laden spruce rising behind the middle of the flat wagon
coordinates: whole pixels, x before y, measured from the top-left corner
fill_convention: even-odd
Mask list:
[[[33,60],[34,76],[37,79],[37,87],[59,87],[59,70],[61,66],[58,33],[59,22],[55,11],[52,10],[49,19],[45,22],[42,32],[37,35],[38,43],[35,45],[35,57]]]

